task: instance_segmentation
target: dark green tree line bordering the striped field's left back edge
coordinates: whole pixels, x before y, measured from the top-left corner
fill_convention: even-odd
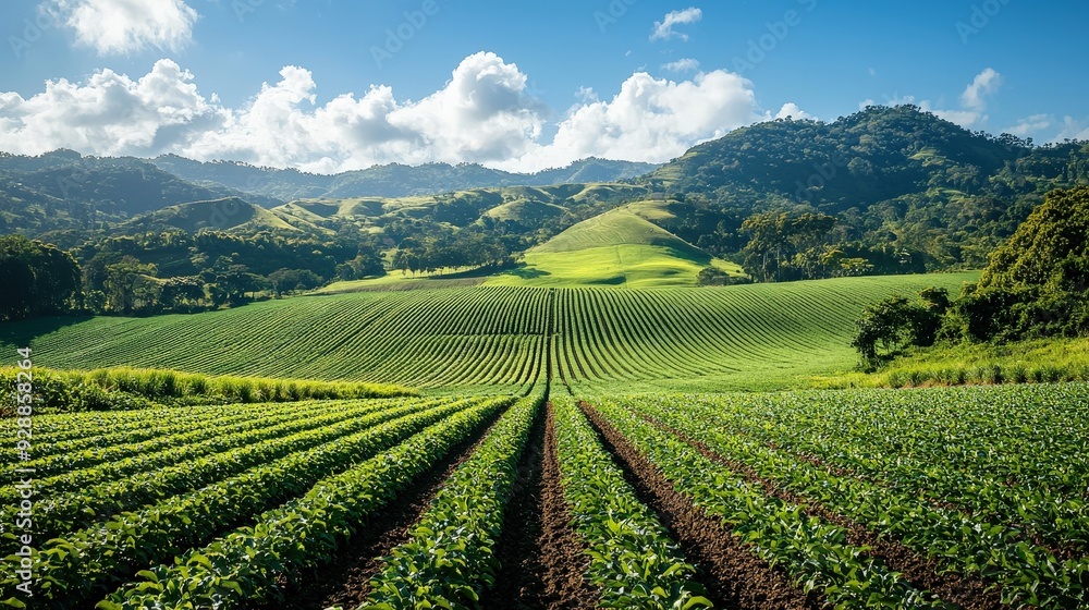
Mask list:
[[[510,266],[522,237],[393,227],[405,235],[389,267],[417,273]],[[328,239],[258,232],[181,230],[103,236],[64,252],[41,241],[0,241],[0,320],[79,313],[149,316],[243,305],[313,290],[333,281],[387,273],[391,237],[339,233]]]

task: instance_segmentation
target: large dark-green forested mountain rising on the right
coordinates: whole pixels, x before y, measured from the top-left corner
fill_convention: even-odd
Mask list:
[[[810,258],[834,251],[889,272],[981,267],[1045,193],[1089,184],[1089,144],[1033,146],[914,106],[870,107],[739,129],[640,180],[678,199],[669,229],[769,278],[806,277]]]

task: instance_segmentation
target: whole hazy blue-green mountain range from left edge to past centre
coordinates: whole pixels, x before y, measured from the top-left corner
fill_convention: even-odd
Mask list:
[[[295,199],[400,197],[470,187],[611,182],[657,166],[587,159],[537,174],[476,164],[381,166],[335,175],[261,169],[245,163],[201,163],[175,156],[154,161],[84,157],[54,150],[37,157],[0,152],[0,234],[23,233],[74,245],[78,237],[133,217],[193,202],[242,197],[274,208]],[[479,210],[476,218],[486,210]],[[218,228],[218,227],[213,227]]]

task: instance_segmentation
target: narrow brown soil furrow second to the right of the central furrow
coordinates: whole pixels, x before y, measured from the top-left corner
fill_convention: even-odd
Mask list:
[[[760,477],[747,464],[742,464],[720,455],[706,443],[690,438],[681,430],[666,426],[653,417],[641,417],[651,425],[690,444],[705,457],[726,466],[749,483],[760,485],[769,496],[779,498],[784,502],[797,504],[802,507],[806,514],[824,518],[843,527],[846,530],[848,544],[856,547],[869,547],[868,554],[880,559],[894,571],[901,572],[913,587],[929,589],[941,597],[942,600],[960,606],[966,610],[1005,608],[1001,602],[998,587],[988,589],[989,583],[966,575],[953,573],[939,574],[939,564],[933,558],[927,558],[895,540],[879,537],[872,530],[844,515],[829,510],[822,504],[806,500],[790,490],[776,487],[771,481]]]

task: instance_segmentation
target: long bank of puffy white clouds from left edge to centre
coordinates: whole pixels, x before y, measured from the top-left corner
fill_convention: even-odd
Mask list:
[[[526,76],[494,53],[466,58],[444,88],[399,102],[388,86],[316,106],[308,70],[286,66],[246,106],[205,98],[193,74],[160,60],[137,81],[103,70],[83,84],[61,80],[29,99],[0,94],[0,149],[59,147],[96,155],[176,152],[311,171],[375,163],[510,159],[540,136],[543,108]]]

